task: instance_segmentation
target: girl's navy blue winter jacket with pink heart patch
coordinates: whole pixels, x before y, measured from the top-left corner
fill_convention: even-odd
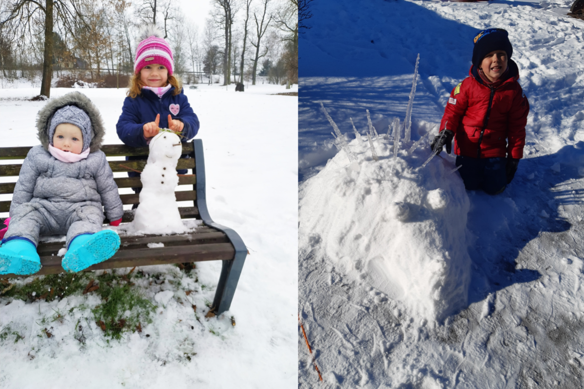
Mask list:
[[[160,128],[168,128],[168,114],[171,114],[173,119],[185,124],[183,141],[194,138],[199,132],[199,118],[194,114],[183,90],[173,96],[174,90],[175,87],[171,87],[161,99],[149,89],[142,89],[142,93],[135,98],[126,97],[116,124],[117,136],[121,141],[132,147],[147,146],[144,124],[156,120],[157,114],[160,114]]]

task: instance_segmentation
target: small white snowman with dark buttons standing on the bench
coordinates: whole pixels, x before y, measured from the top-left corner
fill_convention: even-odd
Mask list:
[[[143,233],[172,234],[186,231],[176,204],[179,183],[176,163],[182,153],[179,136],[163,129],[150,141],[150,155],[142,171],[140,206],[134,215],[134,229]]]

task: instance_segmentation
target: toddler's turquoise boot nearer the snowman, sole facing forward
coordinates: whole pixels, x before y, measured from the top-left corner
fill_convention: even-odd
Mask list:
[[[109,260],[118,248],[120,237],[112,230],[78,235],[69,242],[61,266],[68,272],[82,271],[91,265]]]

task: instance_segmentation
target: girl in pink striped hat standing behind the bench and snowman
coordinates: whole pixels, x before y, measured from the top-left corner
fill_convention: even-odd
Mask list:
[[[169,128],[180,132],[182,141],[186,142],[197,135],[199,118],[190,107],[179,80],[172,75],[174,62],[171,47],[154,25],[147,26],[140,38],[134,75],[116,124],[117,136],[128,146],[143,147],[150,143],[160,128]],[[146,158],[130,156],[127,159]],[[187,171],[178,172],[186,174]],[[128,176],[140,174],[130,172]],[[135,191],[140,192],[139,188]]]

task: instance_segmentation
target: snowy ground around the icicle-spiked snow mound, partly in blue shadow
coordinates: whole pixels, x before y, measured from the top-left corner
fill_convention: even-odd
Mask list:
[[[363,288],[319,242],[300,247],[298,307],[325,387],[582,387],[584,23],[558,11],[571,1],[340,1],[335,16],[326,3],[315,5],[321,19],[300,42],[301,198],[307,178],[336,154],[322,146],[332,136],[319,101],[347,139],[349,117],[363,133],[366,108],[383,134],[392,117],[403,120],[420,52],[412,116],[423,134],[420,124],[440,120],[468,74],[479,29],[509,31],[531,114],[515,181],[498,197],[469,192],[470,306],[444,325],[413,321]],[[299,236],[308,233],[300,211]],[[300,384],[317,387],[303,339],[298,347]]]

